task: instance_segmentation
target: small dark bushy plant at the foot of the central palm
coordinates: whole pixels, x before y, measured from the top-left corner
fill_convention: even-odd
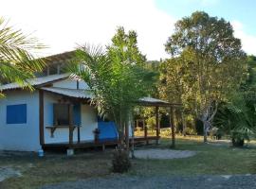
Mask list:
[[[113,172],[114,173],[127,172],[131,167],[129,152],[119,147],[115,149],[113,154],[114,154],[114,157],[112,160]]]

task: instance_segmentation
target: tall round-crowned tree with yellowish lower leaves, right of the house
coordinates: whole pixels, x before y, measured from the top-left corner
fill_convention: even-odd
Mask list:
[[[244,77],[246,54],[241,42],[233,36],[229,22],[196,11],[175,24],[174,34],[165,47],[172,59],[179,61],[179,77],[187,90],[181,92],[182,100],[190,103],[194,114],[204,123],[206,142],[218,103],[237,89]],[[168,66],[176,69],[175,63]]]

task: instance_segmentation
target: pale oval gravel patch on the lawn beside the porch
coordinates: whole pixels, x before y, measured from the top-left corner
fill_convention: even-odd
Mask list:
[[[196,154],[195,151],[189,150],[172,150],[172,149],[137,149],[135,157],[141,159],[176,159],[188,158]]]

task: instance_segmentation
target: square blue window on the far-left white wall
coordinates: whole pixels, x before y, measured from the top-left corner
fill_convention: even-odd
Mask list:
[[[7,106],[7,124],[26,124],[27,104]]]

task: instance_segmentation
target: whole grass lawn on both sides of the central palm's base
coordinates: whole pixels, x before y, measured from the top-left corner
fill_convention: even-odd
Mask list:
[[[170,139],[162,139],[159,146],[168,148]],[[139,147],[141,148],[141,147]],[[175,160],[133,160],[127,175],[200,175],[200,174],[254,174],[256,173],[256,147],[233,148],[229,145],[203,144],[198,138],[178,138],[176,149],[194,150],[191,158]],[[22,177],[0,182],[0,188],[37,188],[46,183],[81,180],[111,175],[111,149],[105,152],[88,150],[73,157],[65,154],[49,154],[45,158],[36,155],[0,157],[0,166],[21,170]]]

